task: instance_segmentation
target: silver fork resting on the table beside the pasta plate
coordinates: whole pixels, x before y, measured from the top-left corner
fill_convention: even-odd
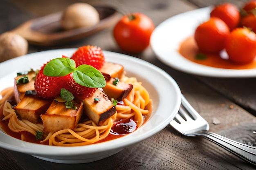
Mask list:
[[[209,124],[199,113],[189,104],[184,95],[181,100],[182,106],[170,125],[185,136],[205,137],[216,144],[222,146],[240,159],[256,165],[256,147],[233,141],[213,132],[208,132]]]

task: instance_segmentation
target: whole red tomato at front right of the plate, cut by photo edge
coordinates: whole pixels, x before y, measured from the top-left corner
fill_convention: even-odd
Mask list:
[[[225,49],[232,62],[252,62],[256,57],[256,34],[248,28],[236,28],[225,39]]]

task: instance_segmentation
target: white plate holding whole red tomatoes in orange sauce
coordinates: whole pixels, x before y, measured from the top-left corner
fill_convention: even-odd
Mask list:
[[[157,58],[179,71],[208,77],[255,77],[256,69],[224,69],[191,62],[178,53],[180,43],[193,35],[197,26],[209,19],[212,7],[175,15],[159,24],[151,35]]]

